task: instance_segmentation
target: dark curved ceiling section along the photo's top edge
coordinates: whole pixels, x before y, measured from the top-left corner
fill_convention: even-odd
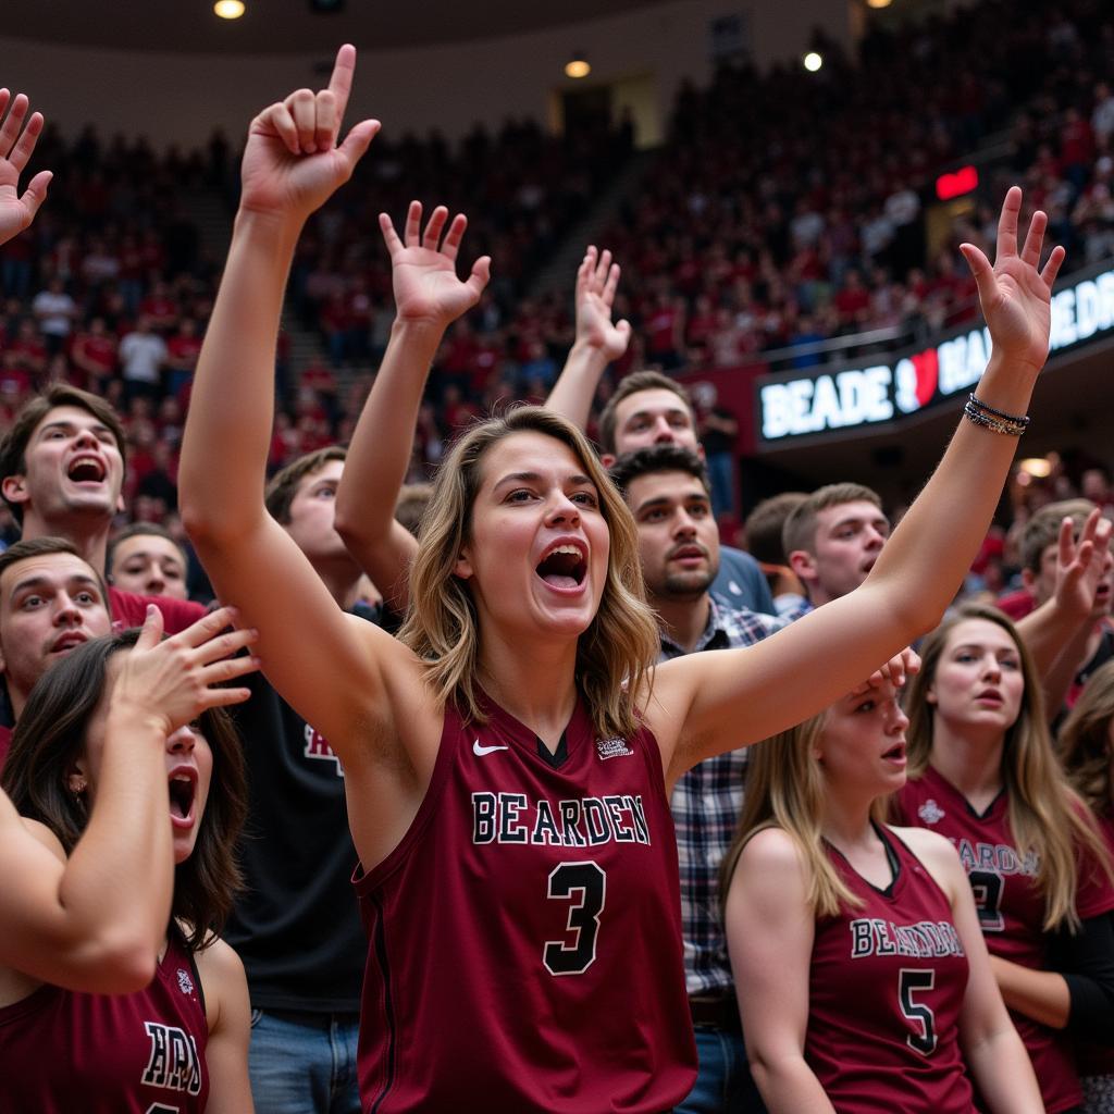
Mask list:
[[[0,37],[67,46],[176,53],[310,53],[338,42],[364,49],[491,39],[649,8],[661,0],[345,0],[314,12],[310,0],[245,0],[237,20],[213,0],[3,0]]]

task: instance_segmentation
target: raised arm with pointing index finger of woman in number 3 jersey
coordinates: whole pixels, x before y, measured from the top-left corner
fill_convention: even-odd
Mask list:
[[[274,354],[286,274],[309,215],[345,183],[379,130],[356,124],[338,146],[355,50],[345,46],[326,89],[299,89],[252,121],[224,277],[202,346],[179,473],[182,517],[218,596],[260,632],[267,678],[341,755],[367,732],[377,657],[400,649],[345,616],[310,563],[266,512],[264,476],[274,417]]]

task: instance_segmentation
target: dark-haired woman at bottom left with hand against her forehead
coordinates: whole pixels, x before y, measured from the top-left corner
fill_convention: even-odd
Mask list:
[[[252,1110],[247,986],[213,928],[237,883],[233,844],[246,795],[240,743],[223,705],[248,692],[218,683],[257,663],[226,656],[252,641],[250,632],[219,634],[233,617],[228,610],[165,642],[158,615],[150,608],[141,632],[94,639],[51,666],[12,736],[3,785],[39,844],[36,862],[53,863],[42,897],[53,891],[56,903],[71,895],[88,902],[95,886],[117,931],[86,935],[56,910],[52,921],[40,918],[38,941],[20,941],[30,961],[0,968],[6,1110]],[[154,784],[150,768],[157,768]],[[143,800],[121,809],[114,799],[125,797]],[[157,926],[136,912],[150,900],[135,891],[143,879],[105,861],[114,840],[104,827],[94,832],[101,810],[117,823],[129,814],[141,819],[129,838],[152,840],[175,864],[173,895],[160,878],[147,882],[163,911]],[[60,873],[68,877],[59,883]],[[110,970],[129,965],[130,993],[97,993],[121,989],[118,975],[98,985],[91,973],[102,960]]]

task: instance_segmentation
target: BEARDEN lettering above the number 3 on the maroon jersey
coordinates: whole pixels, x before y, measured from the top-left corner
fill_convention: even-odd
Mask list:
[[[649,846],[642,794],[530,800],[526,793],[472,793],[473,843],[537,847]]]

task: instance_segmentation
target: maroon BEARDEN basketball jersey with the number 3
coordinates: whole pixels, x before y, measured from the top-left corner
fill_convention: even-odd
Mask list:
[[[661,1112],[694,1079],[673,822],[653,735],[557,755],[446,711],[402,842],[360,877],[360,1092],[401,1111]]]

